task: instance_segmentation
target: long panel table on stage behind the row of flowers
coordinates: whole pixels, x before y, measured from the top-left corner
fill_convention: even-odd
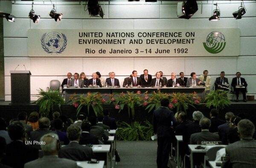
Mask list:
[[[99,87],[99,88],[64,88],[65,90],[65,100],[66,102],[69,101],[70,96],[76,93],[76,95],[87,95],[88,92],[100,92],[102,95],[105,95],[105,99],[108,101],[108,95],[112,93],[121,93],[124,92],[137,92],[140,91],[141,93],[145,93],[148,91],[148,94],[151,94],[151,92],[155,91],[157,92],[160,90],[164,93],[173,93],[173,92],[180,92],[180,93],[193,93],[196,92],[198,96],[202,98],[202,101],[204,101],[205,96],[205,87],[161,87],[161,88],[155,88],[155,87],[133,87],[133,88],[125,88],[125,87],[119,87],[119,88],[113,88],[113,87]]]

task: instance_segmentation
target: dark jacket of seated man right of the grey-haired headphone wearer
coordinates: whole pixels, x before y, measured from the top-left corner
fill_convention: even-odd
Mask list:
[[[93,158],[93,149],[88,146],[81,146],[77,142],[70,142],[67,146],[61,147],[58,155],[60,158],[74,161],[90,160]]]

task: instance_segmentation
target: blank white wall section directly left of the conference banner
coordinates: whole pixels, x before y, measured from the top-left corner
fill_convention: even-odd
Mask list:
[[[27,56],[27,38],[3,38],[4,56]]]

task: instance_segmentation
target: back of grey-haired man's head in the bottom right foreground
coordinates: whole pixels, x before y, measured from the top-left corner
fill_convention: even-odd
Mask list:
[[[250,120],[240,120],[237,126],[240,137],[253,137],[255,126]]]

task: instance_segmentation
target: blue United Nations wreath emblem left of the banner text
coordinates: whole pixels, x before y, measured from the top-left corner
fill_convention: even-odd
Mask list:
[[[41,45],[47,53],[62,53],[67,47],[67,37],[58,32],[45,33],[41,37]]]

